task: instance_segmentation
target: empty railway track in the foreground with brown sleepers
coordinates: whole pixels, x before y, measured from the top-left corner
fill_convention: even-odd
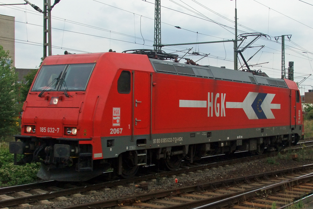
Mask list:
[[[211,209],[284,206],[313,193],[313,165],[59,209]]]

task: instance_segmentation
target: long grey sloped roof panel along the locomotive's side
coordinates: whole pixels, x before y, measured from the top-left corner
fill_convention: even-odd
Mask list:
[[[283,79],[253,75],[250,72],[234,71],[231,69],[213,67],[209,65],[188,65],[156,59],[150,59],[150,61],[153,69],[160,73],[288,88]]]

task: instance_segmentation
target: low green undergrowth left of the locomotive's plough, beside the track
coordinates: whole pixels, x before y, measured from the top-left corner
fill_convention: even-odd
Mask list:
[[[0,142],[0,186],[29,184],[40,180],[36,175],[40,163],[13,165],[13,154],[9,153],[7,142]]]

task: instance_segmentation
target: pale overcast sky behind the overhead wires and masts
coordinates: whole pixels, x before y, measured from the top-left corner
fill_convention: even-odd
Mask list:
[[[43,9],[43,0],[30,2]],[[24,1],[0,0],[0,4],[3,3]],[[265,64],[252,69],[280,78],[281,38],[277,43],[274,37],[292,35],[290,41],[285,37],[286,68],[289,61],[294,61],[295,81],[298,82],[313,74],[312,5],[313,0],[237,0],[238,34],[258,32],[269,35],[252,45],[265,45],[248,62],[249,65]],[[162,44],[234,39],[234,0],[161,0],[161,6]],[[15,66],[38,66],[43,56],[43,14],[30,5],[0,6],[0,14],[15,17]],[[51,14],[53,55],[62,55],[65,50],[78,54],[107,52],[109,49],[116,52],[153,49],[153,0],[61,0]],[[197,62],[200,65],[233,69],[233,42],[162,49],[173,53],[190,48],[190,52],[210,54]],[[259,47],[245,50],[245,59],[248,60],[257,50]],[[201,58],[185,57],[194,61]],[[312,80],[313,76],[310,76],[302,83],[306,86],[300,86],[303,87],[301,94],[304,88],[306,91],[312,89]]]

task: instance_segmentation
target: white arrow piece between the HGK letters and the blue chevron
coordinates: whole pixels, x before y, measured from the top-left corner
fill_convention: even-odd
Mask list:
[[[251,107],[258,94],[258,92],[249,92],[243,102],[226,102],[226,108],[243,108],[249,119],[258,119]]]

